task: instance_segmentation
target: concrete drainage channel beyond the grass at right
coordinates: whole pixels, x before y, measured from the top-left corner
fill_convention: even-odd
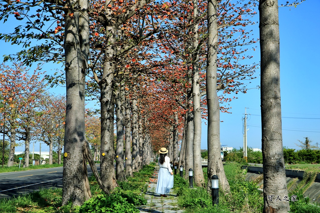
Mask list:
[[[258,166],[242,166],[242,169],[248,169],[246,180],[256,180],[259,183],[258,186],[263,184],[263,168]],[[287,177],[287,186],[289,191],[292,191],[298,186],[300,181],[303,179],[304,171],[300,170],[285,170]],[[305,185],[308,182],[305,183]],[[302,186],[304,187],[304,186]],[[263,191],[259,188],[260,191]],[[315,181],[305,190],[303,193],[305,196],[310,198],[310,202],[320,202],[320,173],[316,174]]]

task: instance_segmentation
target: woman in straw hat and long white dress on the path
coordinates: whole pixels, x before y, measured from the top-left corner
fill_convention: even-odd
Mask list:
[[[160,157],[159,162],[159,173],[158,182],[156,187],[156,194],[160,194],[161,197],[167,197],[165,194],[169,194],[170,189],[173,187],[173,172],[170,167],[170,158],[167,155],[168,150],[161,148],[159,150]]]

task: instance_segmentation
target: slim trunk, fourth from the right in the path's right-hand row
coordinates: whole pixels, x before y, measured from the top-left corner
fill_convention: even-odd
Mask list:
[[[187,71],[188,82],[192,85],[192,69],[188,67]],[[188,178],[189,169],[193,170],[193,110],[192,110],[192,90],[187,90],[187,107],[188,107],[188,119],[187,119],[187,134],[186,134],[186,155],[185,155],[185,170],[186,178]]]

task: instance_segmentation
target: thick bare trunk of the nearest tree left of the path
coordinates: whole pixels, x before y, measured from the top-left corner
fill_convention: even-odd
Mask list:
[[[82,205],[87,187],[84,185],[86,171],[82,155],[85,142],[84,99],[85,75],[89,56],[89,1],[68,0],[65,16],[65,70],[66,70],[66,125],[63,160],[62,205],[70,200]]]

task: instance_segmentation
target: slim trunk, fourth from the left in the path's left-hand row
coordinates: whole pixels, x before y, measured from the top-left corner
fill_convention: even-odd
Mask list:
[[[125,98],[125,176],[132,176],[132,156],[131,156],[131,113],[129,103],[129,92],[127,88],[124,90],[127,98]]]

